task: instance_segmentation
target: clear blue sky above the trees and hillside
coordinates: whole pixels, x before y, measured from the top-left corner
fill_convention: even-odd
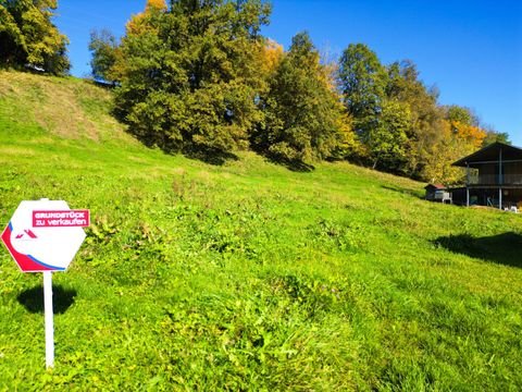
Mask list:
[[[122,35],[145,0],[59,1],[54,20],[71,40],[72,73],[89,72],[89,32]],[[522,146],[522,0],[273,0],[263,34],[288,48],[308,30],[315,46],[336,57],[366,44],[388,64],[410,59],[442,105],[475,110],[484,123]]]

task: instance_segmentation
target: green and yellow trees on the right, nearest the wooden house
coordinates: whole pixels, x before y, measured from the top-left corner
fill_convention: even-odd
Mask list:
[[[384,68],[368,47],[350,45],[339,86],[364,148],[362,161],[373,168],[455,184],[463,172],[451,163],[487,139],[470,109],[437,103],[438,91],[424,85],[410,60]]]

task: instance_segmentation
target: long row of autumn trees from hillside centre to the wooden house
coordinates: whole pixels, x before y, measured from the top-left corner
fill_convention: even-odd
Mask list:
[[[324,64],[307,33],[285,51],[260,33],[270,12],[263,0],[149,0],[121,42],[92,33],[92,74],[117,86],[130,132],[169,151],[345,158],[451,184],[462,180],[452,161],[508,142],[471,109],[439,105],[411,60],[386,65],[350,44]]]

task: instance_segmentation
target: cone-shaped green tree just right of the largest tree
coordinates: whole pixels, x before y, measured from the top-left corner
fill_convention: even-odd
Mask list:
[[[261,98],[264,122],[253,145],[286,162],[313,162],[355,144],[350,120],[307,33],[296,35]]]

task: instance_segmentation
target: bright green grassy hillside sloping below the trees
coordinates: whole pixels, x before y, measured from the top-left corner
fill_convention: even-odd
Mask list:
[[[0,252],[0,390],[457,390],[522,384],[522,218],[423,201],[348,163],[296,173],[147,149],[77,79],[0,73],[0,223],[94,217],[54,274]]]

